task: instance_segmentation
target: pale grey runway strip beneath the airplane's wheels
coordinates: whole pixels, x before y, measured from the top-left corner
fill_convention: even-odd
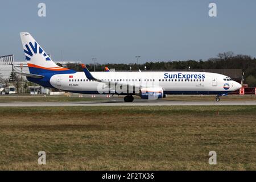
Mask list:
[[[80,101],[80,102],[0,102],[0,107],[46,107],[46,106],[243,106],[256,105],[256,101],[142,101],[134,102],[112,101]]]

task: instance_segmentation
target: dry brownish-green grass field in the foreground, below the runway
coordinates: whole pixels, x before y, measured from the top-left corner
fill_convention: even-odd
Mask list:
[[[0,169],[255,170],[255,111],[256,106],[0,107]],[[45,166],[38,165],[41,150]]]

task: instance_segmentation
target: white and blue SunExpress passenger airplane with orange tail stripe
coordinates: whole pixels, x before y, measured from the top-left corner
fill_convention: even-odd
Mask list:
[[[220,96],[241,88],[230,77],[209,72],[90,72],[81,64],[83,72],[56,65],[28,32],[20,38],[30,73],[19,73],[48,88],[81,94],[125,95],[125,102],[133,96],[156,100],[167,94],[212,94]]]

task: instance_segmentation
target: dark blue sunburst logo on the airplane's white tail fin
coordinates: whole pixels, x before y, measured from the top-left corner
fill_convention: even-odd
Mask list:
[[[26,60],[30,61],[31,57],[33,55],[36,55],[37,53],[40,53],[40,55],[42,55],[44,57],[44,59],[46,59],[46,61],[51,61],[51,58],[49,58],[49,56],[47,55],[46,52],[44,52],[44,50],[39,46],[38,43],[34,43],[34,45],[30,42],[28,44],[25,45],[26,49],[24,49],[25,52],[25,56],[26,56]]]

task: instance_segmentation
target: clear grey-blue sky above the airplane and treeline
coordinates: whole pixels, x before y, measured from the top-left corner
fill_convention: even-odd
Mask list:
[[[41,2],[46,17],[38,16]],[[208,15],[211,2],[217,17]],[[0,55],[16,61],[24,61],[19,32],[30,32],[55,61],[207,60],[226,51],[256,57],[255,0],[9,0],[0,2],[0,23]]]

